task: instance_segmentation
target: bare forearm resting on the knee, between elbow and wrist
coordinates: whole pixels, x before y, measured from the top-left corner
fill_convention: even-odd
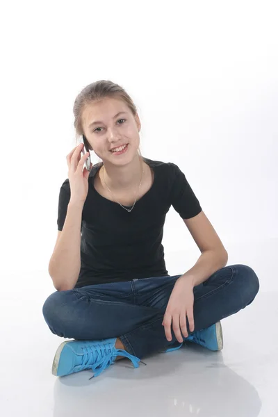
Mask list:
[[[227,265],[227,261],[227,252],[206,250],[199,256],[193,268],[181,275],[180,279],[192,282],[193,287],[195,287],[206,281],[217,270],[224,268]]]

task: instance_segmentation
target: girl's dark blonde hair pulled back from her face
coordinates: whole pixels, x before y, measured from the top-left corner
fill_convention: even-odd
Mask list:
[[[85,136],[82,125],[82,113],[85,106],[87,106],[87,104],[92,103],[93,101],[98,101],[107,97],[116,98],[124,101],[124,103],[131,110],[133,116],[135,116],[136,113],[138,113],[136,105],[133,103],[133,100],[124,90],[124,88],[122,88],[120,85],[115,84],[109,80],[99,80],[95,81],[95,83],[87,85],[85,88],[83,88],[83,90],[81,90],[81,92],[74,101],[73,112],[76,145],[80,143],[79,136]],[[84,143],[88,149],[92,150],[92,147],[89,144],[88,140],[84,139]],[[138,154],[142,158],[140,147],[138,148]],[[99,161],[101,161],[100,158]]]

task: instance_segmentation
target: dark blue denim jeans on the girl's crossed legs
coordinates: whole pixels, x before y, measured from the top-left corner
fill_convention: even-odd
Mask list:
[[[142,358],[167,348],[163,316],[181,275],[131,279],[56,291],[42,307],[52,333],[76,340],[119,337],[127,352]],[[229,265],[194,289],[195,331],[205,329],[252,303],[259,279],[247,265]],[[188,325],[188,322],[187,322]],[[192,334],[188,327],[188,334]]]

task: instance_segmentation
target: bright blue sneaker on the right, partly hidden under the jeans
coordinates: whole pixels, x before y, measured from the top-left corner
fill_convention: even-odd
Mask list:
[[[197,343],[197,345],[201,345],[206,347],[209,350],[222,350],[223,349],[223,334],[222,334],[222,326],[221,322],[215,323],[215,325],[211,325],[203,330],[197,330],[197,332],[193,332],[187,338],[184,338],[185,342],[192,342]],[[183,343],[174,342],[174,347],[170,347],[169,349],[165,350],[164,352],[172,352],[173,350],[178,350]]]

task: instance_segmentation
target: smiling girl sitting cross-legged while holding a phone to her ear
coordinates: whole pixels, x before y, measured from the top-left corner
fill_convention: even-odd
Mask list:
[[[179,167],[142,157],[140,119],[120,85],[101,80],[85,87],[74,117],[76,138],[83,135],[85,149],[102,162],[88,171],[82,143],[67,155],[49,261],[57,291],[42,312],[52,333],[74,341],[58,347],[52,373],[92,369],[97,376],[124,357],[138,368],[145,355],[185,342],[221,350],[220,320],[251,304],[256,273],[226,266],[227,251]],[[171,205],[202,252],[175,276],[161,244]]]

